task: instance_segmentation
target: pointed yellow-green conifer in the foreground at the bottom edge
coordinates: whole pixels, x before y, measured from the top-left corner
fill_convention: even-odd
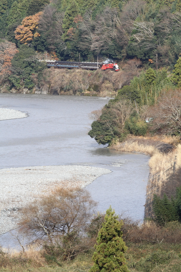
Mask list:
[[[128,268],[124,257],[127,250],[122,238],[122,222],[111,207],[106,211],[102,228],[96,239],[92,260],[94,265],[90,272],[127,272]]]

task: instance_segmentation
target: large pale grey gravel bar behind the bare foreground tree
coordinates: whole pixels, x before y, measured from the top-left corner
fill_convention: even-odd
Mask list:
[[[18,209],[57,185],[85,187],[109,169],[81,166],[34,166],[0,169],[0,234],[17,227]]]

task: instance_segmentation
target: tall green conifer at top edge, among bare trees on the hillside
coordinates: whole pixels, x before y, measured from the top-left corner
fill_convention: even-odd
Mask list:
[[[65,16],[63,19],[62,25],[64,31],[64,34],[62,35],[63,40],[67,39],[66,37],[67,31],[69,30],[69,28],[72,27],[74,18],[79,14],[79,12],[80,10],[78,8],[77,2],[74,0],[70,1],[68,7],[66,8]]]

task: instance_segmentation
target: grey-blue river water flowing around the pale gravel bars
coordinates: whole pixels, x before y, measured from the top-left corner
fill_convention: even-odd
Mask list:
[[[110,169],[86,188],[98,210],[143,220],[149,157],[109,150],[88,136],[89,114],[108,98],[0,94],[0,107],[25,111],[29,117],[0,121],[0,168],[42,165],[88,165]],[[1,246],[12,244],[0,235]]]

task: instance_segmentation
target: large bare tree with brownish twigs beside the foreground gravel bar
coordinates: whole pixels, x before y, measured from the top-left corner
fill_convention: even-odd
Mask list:
[[[53,243],[57,235],[82,231],[95,206],[85,189],[60,187],[22,209],[20,231]]]

